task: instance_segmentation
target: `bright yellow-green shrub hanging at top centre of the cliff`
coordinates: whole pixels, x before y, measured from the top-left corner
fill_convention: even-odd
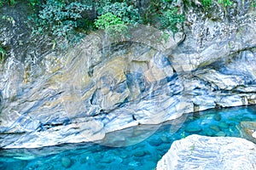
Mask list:
[[[95,26],[98,29],[106,30],[113,36],[124,35],[124,32],[127,32],[128,30],[128,26],[125,25],[125,21],[117,15],[109,12],[99,16],[95,21]]]

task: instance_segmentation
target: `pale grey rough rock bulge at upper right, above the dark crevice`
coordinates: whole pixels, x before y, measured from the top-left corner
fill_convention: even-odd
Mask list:
[[[186,40],[174,50],[176,71],[192,71],[230,54],[255,48],[255,8],[251,1],[234,1],[229,10],[212,1],[207,12],[189,8],[184,31]]]

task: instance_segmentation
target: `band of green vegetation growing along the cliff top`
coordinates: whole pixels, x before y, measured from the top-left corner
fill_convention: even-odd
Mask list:
[[[4,5],[14,6],[19,0],[2,0]],[[26,0],[32,10],[28,20],[32,22],[32,35],[48,35],[55,41],[65,38],[72,44],[96,29],[112,36],[124,36],[129,26],[144,24],[173,34],[183,30],[186,6],[212,8],[213,0],[150,0],[148,4],[128,0]],[[191,3],[194,2],[194,3]],[[223,8],[229,8],[232,0],[218,0]],[[253,4],[254,0],[253,0]],[[142,7],[143,6],[143,7]],[[2,53],[3,55],[3,53]]]

